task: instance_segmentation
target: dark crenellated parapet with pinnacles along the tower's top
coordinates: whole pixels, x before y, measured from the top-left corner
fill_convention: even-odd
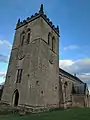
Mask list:
[[[55,27],[55,25],[50,21],[50,19],[47,17],[47,15],[44,13],[43,10],[43,4],[40,6],[40,10],[38,13],[35,13],[34,15],[31,15],[31,17],[27,17],[27,19],[20,21],[20,18],[18,19],[18,22],[16,24],[16,29],[20,28],[21,26],[35,20],[36,18],[42,17],[49,25],[50,27],[59,35],[59,26]]]

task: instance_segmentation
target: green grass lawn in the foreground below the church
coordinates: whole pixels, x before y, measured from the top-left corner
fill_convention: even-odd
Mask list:
[[[46,113],[20,115],[0,115],[0,120],[90,120],[89,108],[57,110]]]

